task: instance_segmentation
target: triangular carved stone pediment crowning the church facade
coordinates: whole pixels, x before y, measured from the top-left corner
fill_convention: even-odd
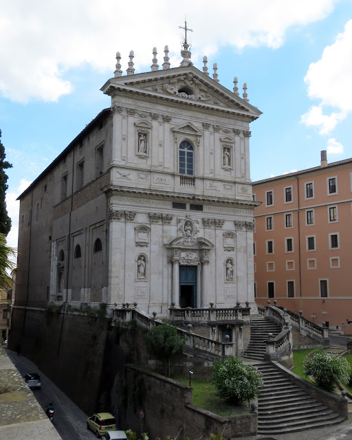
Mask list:
[[[111,78],[102,87],[102,91],[109,95],[114,93],[114,89],[139,91],[147,96],[169,99],[173,102],[235,110],[250,115],[253,119],[261,115],[261,111],[248,101],[192,65]]]

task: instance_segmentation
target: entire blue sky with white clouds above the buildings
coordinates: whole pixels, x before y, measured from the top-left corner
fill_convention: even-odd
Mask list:
[[[192,63],[217,63],[263,112],[250,124],[252,181],[352,157],[351,0],[0,0],[0,129],[8,170],[8,244],[17,197],[104,108],[100,87],[120,52],[126,74],[181,62],[185,12]]]

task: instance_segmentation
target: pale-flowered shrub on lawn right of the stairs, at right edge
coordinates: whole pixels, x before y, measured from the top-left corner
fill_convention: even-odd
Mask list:
[[[303,362],[303,371],[306,376],[314,378],[314,382],[326,391],[333,391],[336,382],[349,382],[349,362],[345,358],[316,350],[314,356]]]

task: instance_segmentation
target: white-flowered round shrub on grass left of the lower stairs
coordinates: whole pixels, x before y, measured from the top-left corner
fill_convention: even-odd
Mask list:
[[[241,358],[218,360],[212,369],[212,382],[220,397],[231,404],[259,396],[264,386],[261,373],[255,367],[245,364]]]

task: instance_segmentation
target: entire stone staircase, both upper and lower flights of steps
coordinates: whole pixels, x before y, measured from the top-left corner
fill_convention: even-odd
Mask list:
[[[343,421],[344,417],[312,399],[271,362],[263,360],[268,333],[276,336],[281,327],[262,317],[252,318],[250,326],[250,344],[244,357],[262,373],[264,382],[258,399],[258,433],[283,434]]]

